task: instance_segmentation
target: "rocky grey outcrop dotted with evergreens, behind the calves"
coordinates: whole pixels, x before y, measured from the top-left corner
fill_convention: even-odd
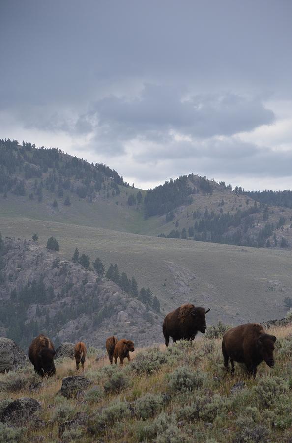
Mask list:
[[[162,316],[92,269],[32,241],[5,239],[0,335],[27,349],[40,332],[60,342],[104,346],[109,335],[141,346],[163,341]]]

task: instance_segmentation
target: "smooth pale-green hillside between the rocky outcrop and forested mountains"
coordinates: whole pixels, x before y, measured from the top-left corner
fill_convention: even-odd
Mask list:
[[[162,313],[187,301],[211,308],[208,322],[263,321],[285,316],[283,300],[292,294],[291,251],[247,248],[180,239],[141,236],[74,224],[0,217],[3,236],[31,237],[39,243],[56,236],[60,256],[71,258],[78,247],[106,268],[151,287]]]

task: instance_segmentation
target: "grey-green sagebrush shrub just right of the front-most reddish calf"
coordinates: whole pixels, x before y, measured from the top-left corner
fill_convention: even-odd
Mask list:
[[[167,355],[158,348],[150,348],[147,351],[139,352],[135,360],[131,362],[131,368],[138,374],[152,374],[167,363]]]

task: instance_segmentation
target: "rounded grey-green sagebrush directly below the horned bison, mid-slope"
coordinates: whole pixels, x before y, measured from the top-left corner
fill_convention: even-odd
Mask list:
[[[185,366],[176,368],[166,377],[169,387],[174,391],[192,391],[201,387],[204,381],[204,374],[201,371],[194,372]]]

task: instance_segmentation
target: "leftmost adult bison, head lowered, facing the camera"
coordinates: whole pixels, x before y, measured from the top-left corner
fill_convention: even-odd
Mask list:
[[[55,374],[55,354],[53,343],[42,334],[33,339],[29,346],[29,360],[33,364],[35,372],[42,377]]]

